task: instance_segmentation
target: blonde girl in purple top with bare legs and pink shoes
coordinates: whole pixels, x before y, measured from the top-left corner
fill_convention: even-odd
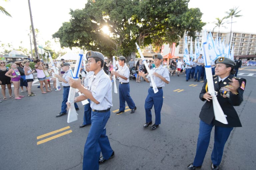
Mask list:
[[[10,77],[11,81],[14,85],[14,95],[15,99],[22,99],[25,97],[24,95],[20,95],[19,88],[20,88],[20,72],[17,69],[17,65],[15,63],[11,63],[11,69],[5,73],[5,76]]]

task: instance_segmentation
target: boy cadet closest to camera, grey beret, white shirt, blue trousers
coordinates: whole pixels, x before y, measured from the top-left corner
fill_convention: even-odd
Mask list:
[[[89,70],[94,72],[94,75],[89,78],[87,89],[81,85],[80,80],[70,79],[69,83],[71,87],[77,88],[84,94],[76,97],[74,101],[87,98],[91,100],[91,128],[84,145],[83,170],[97,170],[99,164],[115,155],[105,128],[112,106],[112,83],[102,69],[104,56],[101,53],[88,51],[86,58],[89,62]]]

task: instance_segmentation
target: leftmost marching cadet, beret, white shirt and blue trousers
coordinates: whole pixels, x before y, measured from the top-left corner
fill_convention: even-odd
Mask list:
[[[62,63],[60,66],[62,68],[62,71],[64,72],[63,76],[61,77],[60,75],[53,74],[54,77],[56,77],[62,81],[62,86],[63,86],[63,100],[61,103],[61,112],[59,114],[57,114],[56,117],[60,117],[62,115],[67,114],[66,102],[68,101],[68,93],[69,93],[69,88],[70,88],[70,85],[68,84],[68,82],[69,82],[69,79],[71,78],[71,72],[69,70],[70,64]],[[75,108],[76,108],[76,110],[79,110],[79,107],[76,103],[75,103]]]

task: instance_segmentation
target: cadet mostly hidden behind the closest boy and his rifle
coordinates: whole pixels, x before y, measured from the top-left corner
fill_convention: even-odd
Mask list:
[[[90,71],[88,66],[89,65],[87,64],[86,65],[87,74],[86,74],[86,77],[83,82],[85,88],[87,88],[87,86],[88,86],[89,78],[92,75],[94,75],[94,72]],[[84,127],[86,125],[91,124],[91,113],[92,113],[92,109],[91,109],[91,105],[90,105],[91,100],[88,99],[88,101],[89,101],[89,103],[84,105],[84,122],[82,124],[80,124],[79,127]]]

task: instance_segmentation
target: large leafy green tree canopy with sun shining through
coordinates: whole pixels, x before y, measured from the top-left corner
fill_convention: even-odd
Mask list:
[[[179,42],[184,31],[194,37],[205,25],[198,8],[189,0],[88,0],[85,8],[70,10],[53,38],[61,47],[79,47],[105,56],[130,56],[141,46],[152,44],[155,51],[164,43]],[[106,28],[109,32],[106,34]],[[105,33],[104,33],[105,32]]]

